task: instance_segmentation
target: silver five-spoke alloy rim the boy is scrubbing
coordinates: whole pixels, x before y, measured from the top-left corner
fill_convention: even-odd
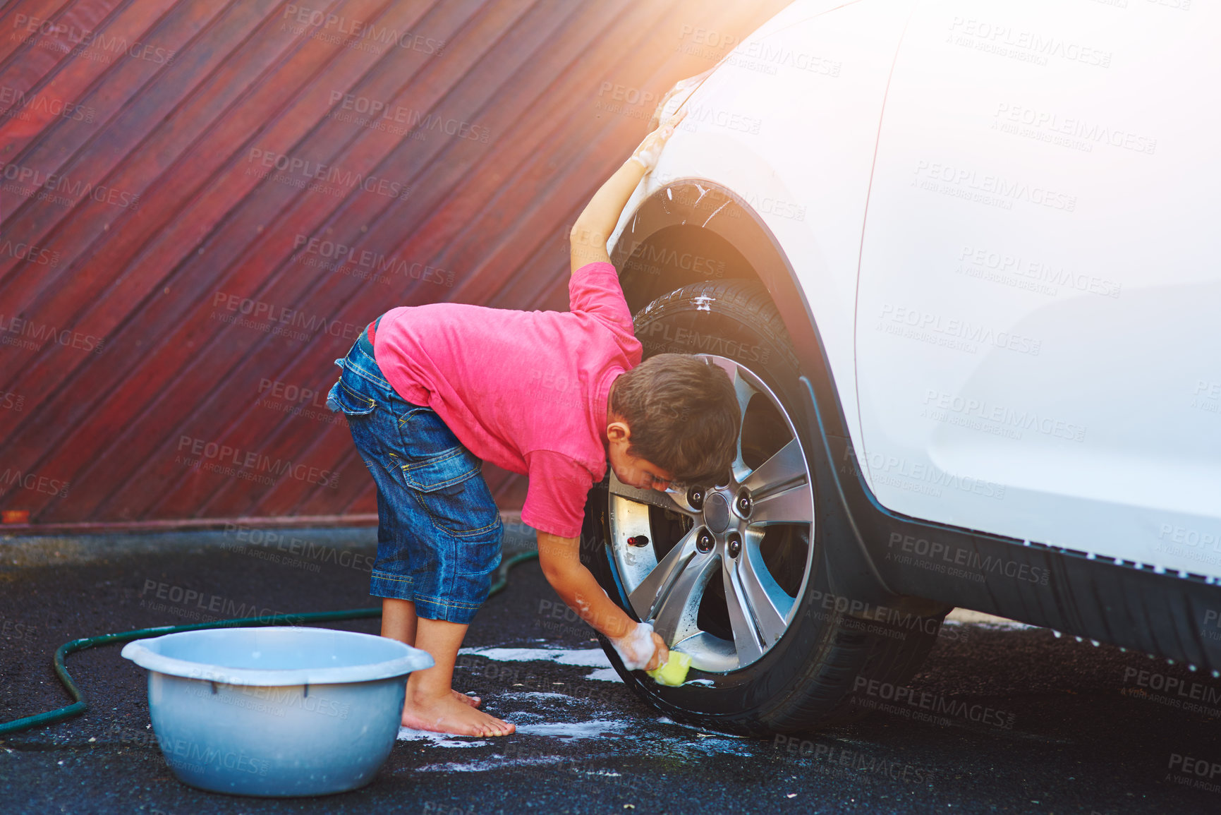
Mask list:
[[[700,356],[737,393],[730,483],[662,492],[612,472],[610,549],[640,619],[694,667],[729,672],[757,662],[792,623],[813,563],[813,480],[792,419],[763,380],[733,359]]]

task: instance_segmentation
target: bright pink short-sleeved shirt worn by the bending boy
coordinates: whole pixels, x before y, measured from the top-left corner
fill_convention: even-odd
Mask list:
[[[484,461],[526,474],[521,521],[576,538],[585,494],[606,475],[610,382],[640,364],[631,312],[609,263],[578,269],[569,312],[432,303],[394,308],[377,365]]]

